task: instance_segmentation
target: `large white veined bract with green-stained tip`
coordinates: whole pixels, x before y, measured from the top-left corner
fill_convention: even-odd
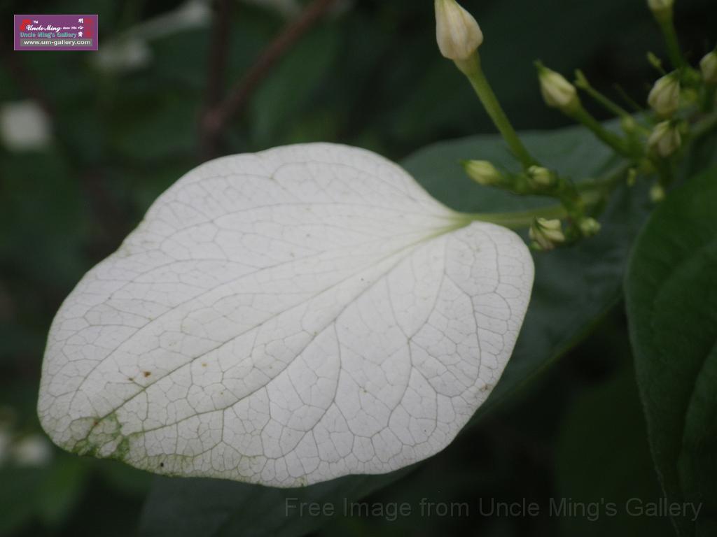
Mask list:
[[[308,144],[199,166],[62,304],[39,416],[62,448],[275,486],[445,448],[511,356],[523,241],[402,168]]]

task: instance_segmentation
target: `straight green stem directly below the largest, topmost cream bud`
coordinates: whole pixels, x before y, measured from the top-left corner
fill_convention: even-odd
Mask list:
[[[503,108],[500,107],[498,97],[495,97],[493,88],[490,87],[488,79],[483,74],[483,69],[480,66],[480,56],[476,52],[472,57],[465,60],[456,60],[456,66],[465,76],[470,80],[470,84],[475,89],[478,99],[483,104],[485,111],[488,112],[490,119],[493,120],[495,127],[503,136],[503,140],[511,148],[513,155],[520,160],[523,168],[530,168],[532,165],[537,165],[538,161],[534,159],[526,146],[523,145],[521,139],[518,137],[518,133],[513,129],[511,121],[508,120],[508,116],[503,112]]]

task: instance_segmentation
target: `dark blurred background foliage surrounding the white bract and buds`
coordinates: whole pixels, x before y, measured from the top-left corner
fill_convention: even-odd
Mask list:
[[[305,2],[230,0],[226,95]],[[521,130],[564,125],[544,107],[533,59],[579,67],[617,100],[642,102],[663,52],[644,0],[465,0],[485,34],[485,72]],[[201,0],[0,0],[14,13],[98,13],[100,52],[12,52],[0,62],[0,536],[132,535],[151,475],[61,453],[34,405],[62,299],[117,248],[156,196],[199,164],[212,11]],[[714,46],[714,0],[678,0],[692,60]],[[216,154],[293,142],[359,145],[394,160],[493,132],[435,46],[432,1],[339,1],[258,84]],[[613,86],[619,81],[621,89]],[[20,103],[20,104],[19,104]],[[600,116],[599,110],[594,110]],[[49,125],[49,127],[48,127]],[[23,137],[22,132],[27,131]],[[480,158],[480,155],[466,155]],[[538,382],[371,502],[479,498],[546,505],[660,496],[622,307]],[[338,501],[338,499],[337,499]],[[665,518],[333,518],[320,535],[670,535]]]

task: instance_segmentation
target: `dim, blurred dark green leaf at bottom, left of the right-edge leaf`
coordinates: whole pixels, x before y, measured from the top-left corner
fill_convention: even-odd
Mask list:
[[[611,342],[609,349],[615,347]],[[569,498],[571,505],[587,505],[584,516],[577,511],[577,516],[560,517],[565,536],[674,534],[668,519],[638,514],[657,503],[661,491],[628,360],[615,377],[582,395],[562,424],[556,452],[558,496]]]

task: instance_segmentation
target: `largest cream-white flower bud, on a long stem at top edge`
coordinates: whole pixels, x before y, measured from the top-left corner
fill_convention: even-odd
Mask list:
[[[473,16],[455,0],[435,0],[436,39],[443,56],[467,59],[483,43],[483,32]]]

